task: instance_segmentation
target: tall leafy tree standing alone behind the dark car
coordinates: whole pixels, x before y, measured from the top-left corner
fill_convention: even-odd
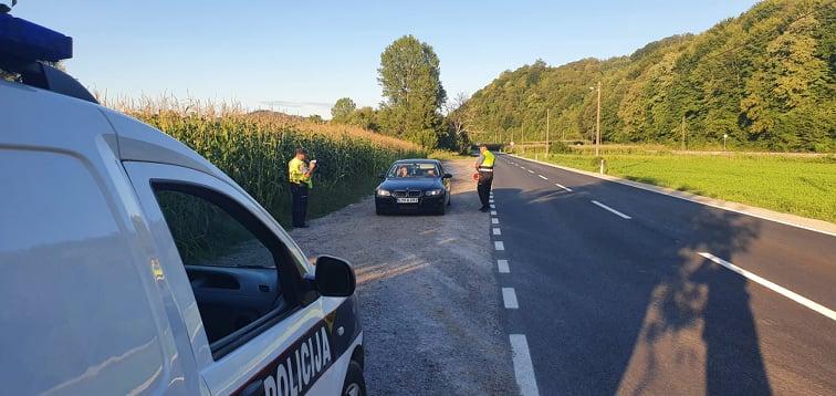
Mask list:
[[[395,40],[380,54],[377,72],[386,97],[380,112],[384,132],[435,147],[442,124],[439,110],[447,93],[432,46],[412,35]]]

